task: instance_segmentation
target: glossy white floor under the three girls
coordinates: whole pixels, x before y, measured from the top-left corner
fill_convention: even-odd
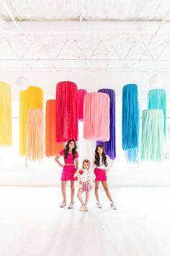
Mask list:
[[[0,187],[1,256],[169,256],[170,187],[111,189],[118,210],[59,208],[60,188]],[[69,192],[69,191],[68,191]]]

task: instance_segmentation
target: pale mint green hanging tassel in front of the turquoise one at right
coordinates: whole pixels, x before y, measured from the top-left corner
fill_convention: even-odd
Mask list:
[[[143,111],[141,160],[164,159],[164,112],[161,109]]]

